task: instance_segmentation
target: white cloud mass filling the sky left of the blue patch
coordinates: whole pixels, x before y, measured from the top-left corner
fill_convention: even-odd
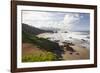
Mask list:
[[[22,23],[35,27],[70,30],[80,20],[79,13],[22,11]]]

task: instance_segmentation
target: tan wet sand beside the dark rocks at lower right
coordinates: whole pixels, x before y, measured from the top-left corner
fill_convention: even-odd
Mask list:
[[[64,50],[64,54],[62,57],[64,60],[82,60],[89,59],[89,50],[84,47],[80,47],[79,45],[70,46],[75,52]]]

